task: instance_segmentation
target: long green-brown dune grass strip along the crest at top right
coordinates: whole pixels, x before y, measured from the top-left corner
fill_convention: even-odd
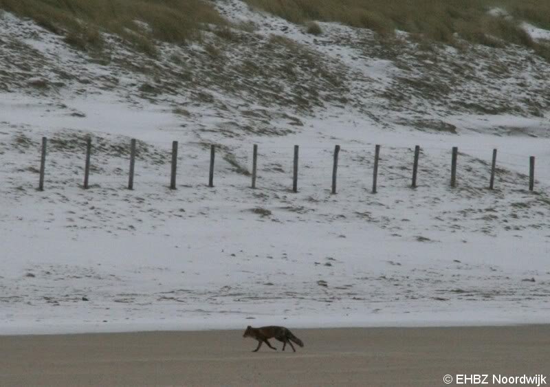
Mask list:
[[[536,48],[518,20],[550,29],[550,1],[540,0],[245,0],[293,23],[337,21],[365,27],[382,35],[395,30],[448,44],[460,36],[472,43],[500,45],[501,41]],[[514,18],[492,16],[502,8]]]

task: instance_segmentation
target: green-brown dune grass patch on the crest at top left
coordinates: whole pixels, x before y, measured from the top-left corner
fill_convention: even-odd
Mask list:
[[[110,32],[152,55],[153,39],[185,43],[198,38],[203,25],[225,24],[201,0],[0,0],[0,8],[34,19],[81,49],[100,49],[100,32]]]

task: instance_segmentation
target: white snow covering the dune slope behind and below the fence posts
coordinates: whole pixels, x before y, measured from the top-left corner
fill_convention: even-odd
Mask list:
[[[394,60],[366,56],[333,40],[360,34],[349,27],[321,23],[330,33],[314,37],[241,1],[217,6],[232,21],[254,21],[259,35],[284,27],[287,38],[316,46],[358,76],[357,95],[371,86],[384,92],[395,77],[409,74]],[[426,113],[456,126],[457,134],[451,134],[395,124],[418,111],[388,113],[370,95],[368,113],[327,104],[303,115],[292,107],[246,104],[246,96],[239,99],[219,87],[206,91],[223,109],[192,104],[186,91],[142,98],[136,86],[150,81],[146,75],[99,65],[10,14],[2,16],[0,26],[44,56],[43,73],[33,76],[65,79],[56,67],[61,63],[86,80],[79,85],[65,79],[65,87],[50,93],[23,89],[23,81],[0,92],[0,334],[248,324],[522,324],[550,318],[547,115],[436,108]],[[36,32],[41,39],[29,37]],[[191,57],[202,48],[186,49],[190,54],[180,54]],[[421,76],[419,68],[410,71]],[[517,77],[536,83],[529,72],[535,69],[526,71]],[[528,94],[536,98],[538,91],[525,87]],[[415,101],[429,106],[410,96],[409,102]],[[190,118],[175,108],[186,109]],[[270,116],[270,127],[288,133],[243,131],[247,124],[259,125],[247,111],[278,111]],[[302,125],[289,124],[296,122],[292,118]],[[43,135],[50,148],[45,190],[39,192]],[[83,190],[87,135],[94,150],[91,188]],[[124,188],[127,147],[134,137],[140,153],[135,189],[129,191]],[[168,189],[173,140],[179,141],[175,191]],[[214,188],[209,188],[212,143],[219,147]],[[249,188],[250,176],[228,162],[234,157],[251,170],[252,144],[259,145],[256,190]],[[294,144],[300,145],[296,194],[289,189]],[[342,146],[338,194],[331,195],[336,144]],[[375,144],[382,144],[382,152],[373,195]],[[412,190],[417,144],[419,187]],[[456,189],[449,187],[452,146],[461,152]],[[493,148],[501,170],[497,189],[490,192]],[[536,193],[527,190],[531,155]]]

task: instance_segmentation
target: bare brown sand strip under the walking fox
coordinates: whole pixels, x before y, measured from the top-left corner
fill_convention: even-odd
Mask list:
[[[243,331],[0,336],[0,385],[444,386],[446,374],[550,375],[550,325],[292,331],[305,342],[296,353],[276,340],[278,351],[252,353]]]

